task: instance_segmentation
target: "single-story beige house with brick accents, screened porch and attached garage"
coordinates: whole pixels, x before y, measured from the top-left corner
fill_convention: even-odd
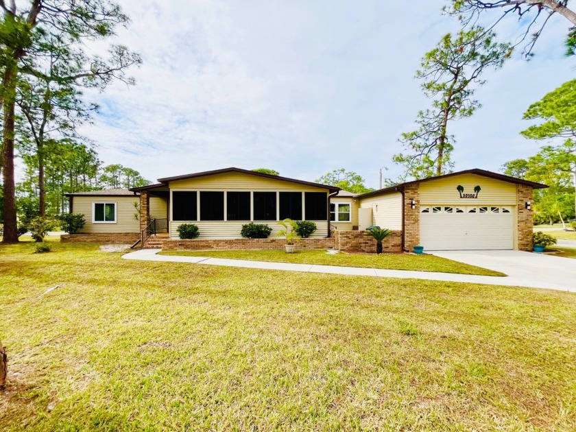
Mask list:
[[[158,179],[130,189],[69,194],[83,213],[82,234],[138,239],[154,226],[178,239],[180,224],[196,224],[199,240],[239,239],[243,224],[314,221],[316,239],[381,226],[411,250],[531,250],[533,189],[547,187],[482,169],[405,182],[363,194],[239,168]],[[364,233],[365,234],[365,233]],[[85,239],[86,237],[84,237]],[[400,252],[398,250],[398,252]]]

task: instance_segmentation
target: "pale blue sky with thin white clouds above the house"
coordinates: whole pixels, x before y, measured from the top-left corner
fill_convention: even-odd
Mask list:
[[[141,54],[136,86],[87,91],[100,105],[82,134],[106,165],[148,180],[225,167],[276,169],[314,181],[356,171],[379,187],[396,178],[398,137],[429,106],[414,78],[420,58],[457,21],[446,0],[122,0],[128,29],[114,40]],[[522,23],[496,32],[513,40]],[[519,132],[526,108],[574,77],[568,21],[551,19],[527,62],[519,52],[485,73],[482,107],[451,124],[455,170],[499,171],[544,143]]]

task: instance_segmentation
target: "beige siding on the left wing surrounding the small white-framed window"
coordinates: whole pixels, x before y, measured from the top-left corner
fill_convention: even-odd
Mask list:
[[[99,224],[94,223],[93,203],[95,202],[115,202],[116,203],[116,223]],[[73,213],[82,213],[86,219],[86,225],[80,231],[83,234],[106,233],[106,232],[140,232],[140,222],[134,217],[136,208],[134,202],[139,202],[137,196],[94,196],[76,195],[72,198]]]

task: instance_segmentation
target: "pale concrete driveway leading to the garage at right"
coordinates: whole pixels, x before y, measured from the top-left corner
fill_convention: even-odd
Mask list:
[[[576,292],[576,259],[519,250],[443,250],[429,253],[503,272],[522,287]]]

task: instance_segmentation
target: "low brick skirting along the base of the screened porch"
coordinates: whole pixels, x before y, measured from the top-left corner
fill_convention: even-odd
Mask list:
[[[284,250],[285,239],[166,239],[162,250]],[[296,249],[331,249],[334,239],[300,239]]]

